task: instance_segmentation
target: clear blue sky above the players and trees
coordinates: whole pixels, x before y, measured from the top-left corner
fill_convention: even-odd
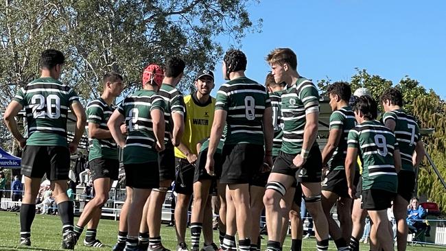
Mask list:
[[[446,98],[446,1],[261,1],[248,10],[262,18],[261,33],[247,34],[241,49],[248,77],[263,83],[263,59],[290,47],[308,78],[349,81],[355,67],[397,84],[405,75]],[[234,41],[218,38],[226,49]],[[215,65],[215,89],[224,82]]]

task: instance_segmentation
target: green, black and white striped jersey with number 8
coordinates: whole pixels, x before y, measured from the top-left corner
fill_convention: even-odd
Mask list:
[[[265,109],[271,107],[265,86],[239,77],[222,84],[216,99],[215,110],[228,112],[225,144],[264,145],[262,119]]]

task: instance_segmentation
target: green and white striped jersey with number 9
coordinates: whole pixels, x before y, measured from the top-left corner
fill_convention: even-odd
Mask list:
[[[347,141],[362,156],[362,190],[397,192],[398,178],[393,152],[398,149],[395,134],[379,121],[364,121],[350,130]]]

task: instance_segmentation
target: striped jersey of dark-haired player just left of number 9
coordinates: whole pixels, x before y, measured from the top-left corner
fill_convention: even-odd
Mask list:
[[[347,157],[347,139],[349,132],[356,125],[355,112],[351,110],[350,106],[345,106],[339,110],[335,110],[330,116],[330,130],[342,130],[342,136],[338,146],[333,152],[330,159],[331,170],[344,170],[345,158]]]

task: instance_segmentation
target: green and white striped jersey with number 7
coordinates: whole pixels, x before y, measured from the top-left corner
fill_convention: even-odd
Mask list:
[[[412,115],[408,115],[400,109],[384,113],[384,123],[388,119],[392,119],[396,123],[394,132],[399,145],[399,154],[401,154],[401,169],[414,171],[412,155],[414,155],[416,143],[420,139],[418,124]]]

